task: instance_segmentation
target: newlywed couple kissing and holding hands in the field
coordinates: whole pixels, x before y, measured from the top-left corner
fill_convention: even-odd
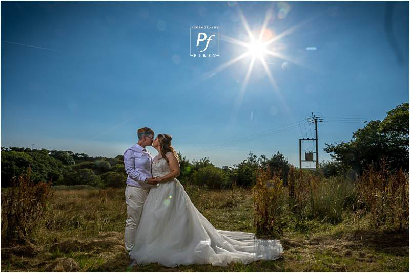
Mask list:
[[[179,158],[172,136],[148,127],[137,130],[138,143],[124,152],[126,252],[133,264],[167,267],[190,264],[227,266],[274,260],[283,252],[279,240],[259,240],[253,233],[223,231],[197,210],[176,179]],[[158,151],[153,158],[146,146]]]

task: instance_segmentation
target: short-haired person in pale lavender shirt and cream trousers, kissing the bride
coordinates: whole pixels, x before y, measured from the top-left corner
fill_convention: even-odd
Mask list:
[[[128,253],[134,247],[135,232],[141,217],[144,202],[153,181],[151,174],[152,156],[145,148],[151,146],[154,131],[148,127],[137,130],[138,143],[124,152],[125,171],[128,174],[125,188],[125,202],[127,204],[127,221],[124,232],[125,249]]]

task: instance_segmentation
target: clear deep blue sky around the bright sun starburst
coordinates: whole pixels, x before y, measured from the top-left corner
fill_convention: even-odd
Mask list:
[[[252,57],[218,69],[248,51],[227,37],[249,42],[240,11],[258,35],[270,9],[264,37],[281,37],[267,47],[282,58],[263,58],[276,87],[256,59],[242,88]],[[280,151],[298,166],[314,112],[319,161],[329,159],[324,143],[363,127],[352,118],[408,102],[408,2],[394,3],[390,25],[401,63],[385,14],[385,2],[2,1],[1,145],[114,157],[148,126],[190,160],[231,166]],[[219,42],[219,57],[190,56],[191,26],[219,27],[207,49]]]

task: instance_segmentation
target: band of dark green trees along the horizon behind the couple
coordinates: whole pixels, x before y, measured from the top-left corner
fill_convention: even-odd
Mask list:
[[[409,104],[403,103],[387,112],[382,120],[370,121],[353,133],[348,142],[325,144],[324,152],[331,161],[323,161],[317,170],[325,177],[361,175],[371,164],[385,158],[392,171],[409,168]],[[257,157],[252,152],[248,158],[233,166],[216,167],[208,157],[190,162],[179,153],[182,184],[207,186],[211,189],[252,186],[256,171],[269,170],[271,175],[280,172],[287,183],[291,164],[279,151],[270,158]],[[31,166],[31,179],[53,181],[53,185],[90,185],[98,188],[123,187],[127,179],[124,158],[91,157],[85,153],[1,147],[1,187],[12,185],[16,176]]]

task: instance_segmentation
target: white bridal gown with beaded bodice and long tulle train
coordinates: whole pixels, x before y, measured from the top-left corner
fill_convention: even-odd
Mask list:
[[[152,175],[170,173],[165,159],[155,156]],[[274,260],[283,252],[279,240],[257,240],[253,233],[217,230],[196,209],[177,179],[151,188],[130,252],[133,264],[244,264]]]

